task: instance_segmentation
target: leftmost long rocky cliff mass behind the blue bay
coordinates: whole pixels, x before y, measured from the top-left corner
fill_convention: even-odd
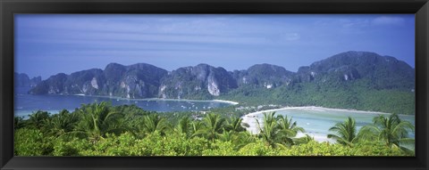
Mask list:
[[[49,77],[29,93],[110,95],[124,98],[156,97],[159,79],[167,71],[148,64],[122,66],[111,63],[102,69],[88,69]]]

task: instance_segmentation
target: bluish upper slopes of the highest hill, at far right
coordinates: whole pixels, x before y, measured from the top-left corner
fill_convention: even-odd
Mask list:
[[[366,79],[371,82],[369,85],[378,89],[410,89],[414,88],[416,77],[415,69],[391,56],[346,52],[299,68],[297,79],[315,83]]]

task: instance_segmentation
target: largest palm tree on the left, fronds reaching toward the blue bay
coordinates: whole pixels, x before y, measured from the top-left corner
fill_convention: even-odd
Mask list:
[[[122,122],[122,113],[112,111],[111,104],[102,101],[80,108],[81,120],[74,133],[88,137],[90,142],[105,138],[106,134],[120,134],[126,128]]]

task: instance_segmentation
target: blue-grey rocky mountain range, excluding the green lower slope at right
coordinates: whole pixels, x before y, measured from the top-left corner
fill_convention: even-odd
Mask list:
[[[18,77],[21,83],[22,76]],[[353,84],[357,80],[366,80],[368,88],[411,91],[415,88],[415,69],[394,57],[369,52],[339,53],[300,67],[298,72],[265,63],[233,71],[207,64],[167,71],[146,63],[130,66],[110,63],[105,69],[81,70],[70,75],[56,74],[37,85],[32,84],[34,87],[29,93],[105,95],[130,99],[214,99],[240,88],[274,89],[303,83]],[[22,82],[28,81],[25,79]]]

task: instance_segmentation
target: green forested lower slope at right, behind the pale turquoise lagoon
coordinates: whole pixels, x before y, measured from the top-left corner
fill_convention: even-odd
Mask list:
[[[320,106],[414,115],[415,96],[416,93],[408,90],[376,89],[372,82],[360,79],[354,82],[299,83],[273,89],[248,85],[218,99],[239,101],[248,106]]]

